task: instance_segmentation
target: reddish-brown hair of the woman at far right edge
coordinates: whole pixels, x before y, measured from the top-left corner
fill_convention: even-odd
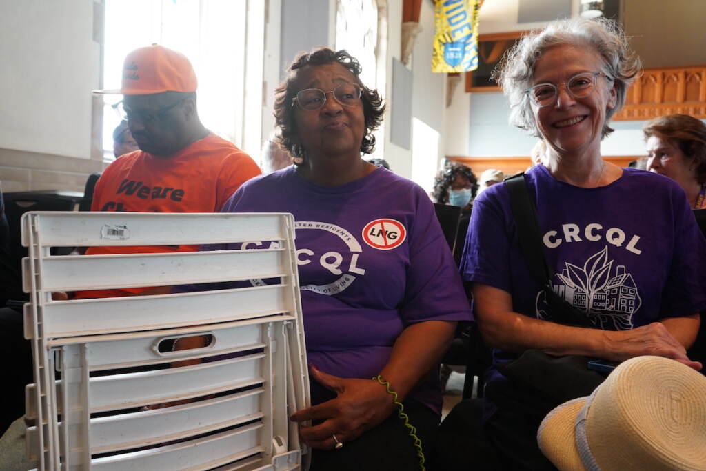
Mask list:
[[[686,160],[693,162],[696,181],[706,183],[706,124],[688,114],[668,114],[642,126],[645,140],[652,136],[676,145]]]

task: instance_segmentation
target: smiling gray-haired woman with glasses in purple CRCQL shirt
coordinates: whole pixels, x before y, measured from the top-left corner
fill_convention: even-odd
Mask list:
[[[551,407],[518,398],[496,369],[525,350],[616,362],[651,354],[701,368],[686,348],[698,331],[697,313],[706,308],[706,280],[699,275],[706,242],[684,192],[662,176],[606,162],[600,153],[612,131],[608,122],[639,68],[614,23],[573,18],[523,37],[498,72],[510,123],[546,142],[542,164],[525,179],[544,258],[556,273],[545,286],[532,277],[507,186],[482,192],[462,276],[472,283],[475,317],[495,349],[486,376],[486,422],[478,433],[492,444],[486,449],[497,452],[498,467],[551,468],[535,438]],[[549,290],[581,311],[590,327],[552,322]],[[452,412],[452,423],[469,407]],[[479,436],[460,438],[474,439]]]

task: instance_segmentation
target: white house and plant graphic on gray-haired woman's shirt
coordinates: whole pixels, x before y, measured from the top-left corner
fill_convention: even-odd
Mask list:
[[[575,308],[585,311],[595,326],[604,330],[633,327],[632,317],[642,300],[633,275],[623,265],[613,266],[608,247],[590,256],[583,267],[565,262],[551,289]],[[548,318],[544,293],[537,294],[537,317]]]

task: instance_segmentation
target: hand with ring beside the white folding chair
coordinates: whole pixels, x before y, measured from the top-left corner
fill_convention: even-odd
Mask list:
[[[316,366],[311,366],[311,376],[337,393],[337,398],[299,410],[289,418],[293,422],[323,421],[299,428],[301,441],[311,448],[330,450],[336,440],[340,443],[355,440],[383,422],[395,408],[392,395],[377,381],[339,378],[319,371]]]

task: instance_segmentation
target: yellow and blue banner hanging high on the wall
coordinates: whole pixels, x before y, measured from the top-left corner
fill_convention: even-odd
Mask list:
[[[480,0],[436,0],[432,72],[467,72],[478,68]]]

